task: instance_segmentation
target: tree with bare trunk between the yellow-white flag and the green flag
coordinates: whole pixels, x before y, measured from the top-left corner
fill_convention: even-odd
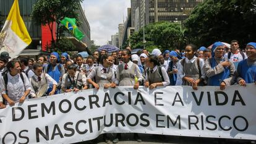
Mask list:
[[[80,2],[83,0],[38,0],[33,6],[32,19],[38,25],[48,25],[51,31],[51,40],[54,43],[53,37],[53,22],[56,22],[56,41],[61,39],[66,28],[60,25],[59,20],[64,17],[72,17],[77,20],[79,25],[79,15],[75,10],[79,9]]]

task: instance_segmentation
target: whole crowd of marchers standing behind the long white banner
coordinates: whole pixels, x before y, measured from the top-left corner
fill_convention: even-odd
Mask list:
[[[108,53],[95,51],[88,57],[53,52],[40,56],[37,61],[27,57],[12,59],[2,52],[0,56],[1,96],[0,108],[23,103],[28,98],[37,98],[58,93],[89,88],[115,88],[117,86],[139,86],[150,89],[168,85],[188,85],[194,90],[198,86],[219,86],[255,83],[256,43],[239,48],[239,42],[227,44],[215,42],[210,48],[188,44],[180,53],[147,49],[131,53],[129,47]],[[48,90],[40,95],[43,85]],[[109,138],[104,135],[105,142]],[[113,140],[117,143],[121,134]],[[134,138],[141,142],[137,133]]]

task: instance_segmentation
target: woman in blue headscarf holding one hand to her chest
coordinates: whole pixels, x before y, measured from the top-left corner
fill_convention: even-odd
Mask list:
[[[211,59],[205,61],[205,74],[208,77],[208,85],[221,86],[227,82],[226,78],[234,75],[235,67],[233,62],[224,59],[225,48],[220,41],[215,42],[211,48]],[[223,87],[223,86],[221,86]]]

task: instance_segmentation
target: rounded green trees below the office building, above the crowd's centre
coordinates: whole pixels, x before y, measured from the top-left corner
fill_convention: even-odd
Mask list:
[[[145,47],[148,50],[180,48],[183,37],[184,30],[179,23],[156,22],[145,26]],[[129,41],[133,49],[143,48],[143,29],[130,36]]]

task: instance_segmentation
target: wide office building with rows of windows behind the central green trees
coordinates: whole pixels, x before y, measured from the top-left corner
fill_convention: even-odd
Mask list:
[[[168,21],[182,23],[190,12],[203,0],[137,0],[139,6],[132,9],[135,31],[148,23]],[[137,10],[136,10],[137,9]]]

